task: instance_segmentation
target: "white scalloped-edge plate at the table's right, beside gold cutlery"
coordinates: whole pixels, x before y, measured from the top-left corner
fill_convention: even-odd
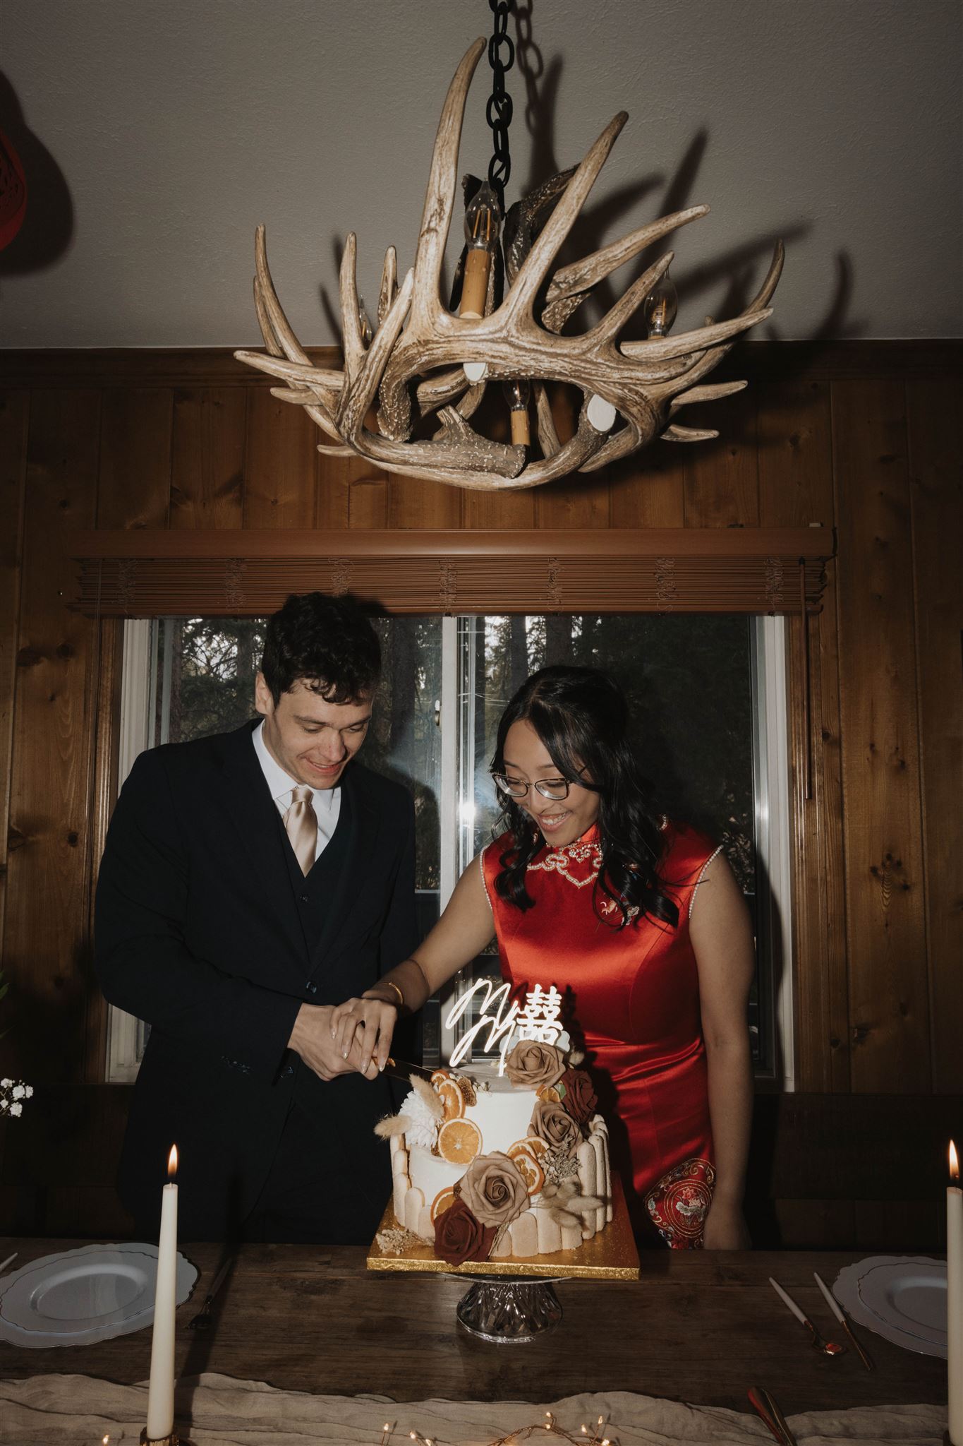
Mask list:
[[[871,1255],[839,1272],[833,1294],[884,1340],[946,1359],[946,1261]]]

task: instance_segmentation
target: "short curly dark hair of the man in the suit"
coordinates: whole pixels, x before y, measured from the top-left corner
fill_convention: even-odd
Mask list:
[[[354,599],[292,593],[267,620],[261,672],[276,706],[299,680],[325,703],[361,703],[378,685],[381,643]]]

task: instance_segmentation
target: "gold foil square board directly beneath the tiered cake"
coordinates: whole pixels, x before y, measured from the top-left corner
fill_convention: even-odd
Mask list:
[[[404,1229],[394,1216],[388,1200],[378,1226],[383,1231]],[[401,1251],[383,1251],[377,1235],[371,1242],[367,1261],[368,1270],[439,1271],[445,1275],[466,1275],[478,1280],[482,1275],[511,1275],[543,1280],[638,1280],[638,1251],[628,1219],[622,1181],[612,1174],[612,1219],[603,1231],[583,1241],[575,1251],[554,1251],[552,1255],[505,1255],[497,1261],[465,1261],[463,1265],[449,1265],[440,1261],[427,1241],[409,1236]]]

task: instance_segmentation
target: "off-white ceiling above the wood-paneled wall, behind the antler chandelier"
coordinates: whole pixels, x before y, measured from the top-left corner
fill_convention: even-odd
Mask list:
[[[0,129],[30,197],[0,254],[6,347],[256,341],[258,221],[302,341],[336,340],[341,240],[371,299],[388,243],[411,263],[448,81],[491,29],[487,0],[0,3]],[[783,236],[757,335],[963,334],[960,0],[515,6],[539,124],[517,62],[508,198],[628,110],[580,249],[709,202],[676,237],[680,325],[731,312]],[[487,169],[488,88],[482,59],[462,172]]]

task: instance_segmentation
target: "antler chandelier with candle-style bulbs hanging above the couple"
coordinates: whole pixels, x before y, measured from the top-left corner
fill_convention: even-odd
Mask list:
[[[507,13],[508,6],[492,4],[492,10]],[[539,487],[573,471],[596,471],[654,437],[677,442],[718,437],[716,431],[680,425],[676,415],[683,406],[728,396],[746,385],[700,383],[733,338],[771,315],[768,302],[783,269],[781,243],[758,295],[732,321],[707,318],[694,331],[666,334],[674,314],[667,282],[673,260],[668,252],[632,282],[601,321],[586,331],[562,334],[601,281],[709,210],[694,205],[676,211],[553,272],[559,250],[628,119],[625,111],[612,119],[575,171],[552,176],[511,207],[504,250],[495,191],[465,178],[466,249],[455,282],[456,296],[461,283],[461,307],[456,312],[455,304],[443,305],[442,263],[455,211],[465,100],[484,49],[485,40],[475,40],[449,87],[435,139],[414,266],[398,286],[396,250],[388,247],[374,328],[358,296],[354,233],[345,241],[339,279],[344,370],[315,366],[297,341],[271,282],[263,226],[256,239],[254,304],[267,354],[235,351],[235,356],[277,377],[283,386],[273,388],[273,395],[303,406],[332,438],[319,451],[332,457],[361,455],[385,471],[456,487],[491,492]],[[500,295],[502,269],[508,283],[504,296]],[[627,321],[642,305],[648,340],[619,343]],[[492,441],[469,425],[489,380],[505,383],[511,442]],[[554,425],[547,382],[582,390],[578,425],[565,442]],[[530,396],[537,450],[528,440]],[[375,402],[377,431],[370,425]],[[426,435],[433,419],[440,427]]]

